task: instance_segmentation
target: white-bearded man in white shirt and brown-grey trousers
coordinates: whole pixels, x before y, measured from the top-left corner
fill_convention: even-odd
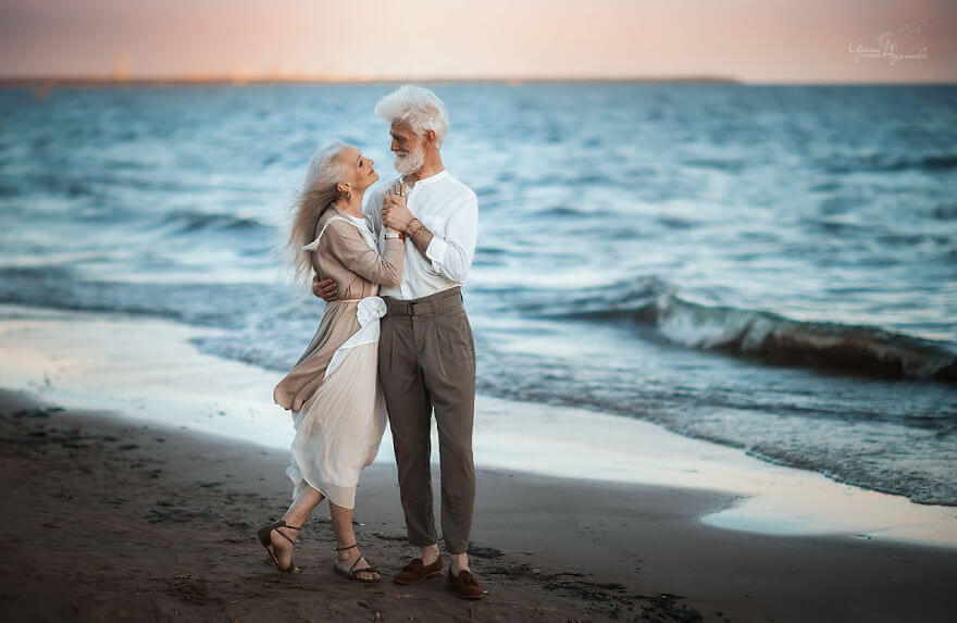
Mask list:
[[[365,215],[378,238],[403,238],[406,269],[398,287],[383,288],[378,372],[389,414],[409,541],[421,549],[395,576],[415,584],[440,575],[430,475],[432,412],[438,428],[442,532],[451,558],[447,580],[456,595],[484,593],[469,570],[469,533],[475,500],[472,421],[475,346],[461,287],[472,265],[478,201],[442,163],[448,113],[431,90],[406,85],[384,97],[375,114],[389,124],[401,177],[372,191]],[[397,229],[388,234],[383,224]],[[336,298],[332,279],[313,285]]]

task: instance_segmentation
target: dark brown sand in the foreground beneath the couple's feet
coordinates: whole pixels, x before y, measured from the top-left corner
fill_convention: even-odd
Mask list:
[[[697,518],[724,493],[481,470],[472,566],[486,599],[440,578],[389,582],[405,543],[395,466],[363,472],[357,536],[385,581],[331,571],[325,504],[297,575],[256,540],[288,501],[288,454],[120,413],[0,393],[4,621],[947,621],[957,552],[779,537]],[[436,489],[437,490],[437,489]]]

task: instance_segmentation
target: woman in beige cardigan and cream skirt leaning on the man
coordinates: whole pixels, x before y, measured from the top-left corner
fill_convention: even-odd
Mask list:
[[[309,163],[289,235],[294,276],[334,279],[339,296],[326,303],[306,352],[276,385],[273,398],[291,411],[296,436],[291,464],[293,503],[283,519],[259,529],[259,539],[279,571],[296,573],[297,533],[312,510],[330,500],[338,547],[333,569],[359,582],[378,582],[352,532],[359,472],[378,452],[387,414],[377,374],[380,286],[402,281],[405,241],[389,230],[385,253],[362,214],[362,197],[378,179],[372,160],[334,142]],[[389,190],[393,191],[391,189]],[[401,188],[395,189],[402,192]]]

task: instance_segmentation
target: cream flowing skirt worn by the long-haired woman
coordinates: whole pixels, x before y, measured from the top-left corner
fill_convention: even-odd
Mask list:
[[[290,411],[293,500],[308,484],[336,506],[355,507],[359,472],[375,460],[388,420],[377,361],[377,341],[350,348],[302,408]]]

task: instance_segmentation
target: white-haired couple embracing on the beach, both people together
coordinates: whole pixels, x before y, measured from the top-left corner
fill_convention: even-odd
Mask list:
[[[326,301],[315,336],[273,398],[289,410],[296,435],[286,473],[293,503],[259,529],[275,565],[295,573],[297,531],[330,500],[337,547],[334,570],[357,582],[382,576],[352,532],[356,486],[391,428],[409,543],[419,557],[394,581],[440,575],[430,475],[432,413],[438,428],[442,529],[459,597],[484,593],[467,550],[475,499],[472,421],[475,350],[461,286],[475,252],[478,202],[443,166],[448,132],[442,100],[406,85],[375,113],[389,124],[400,177],[363,198],[377,179],[372,160],[334,142],[309,162],[288,246],[294,274]]]

